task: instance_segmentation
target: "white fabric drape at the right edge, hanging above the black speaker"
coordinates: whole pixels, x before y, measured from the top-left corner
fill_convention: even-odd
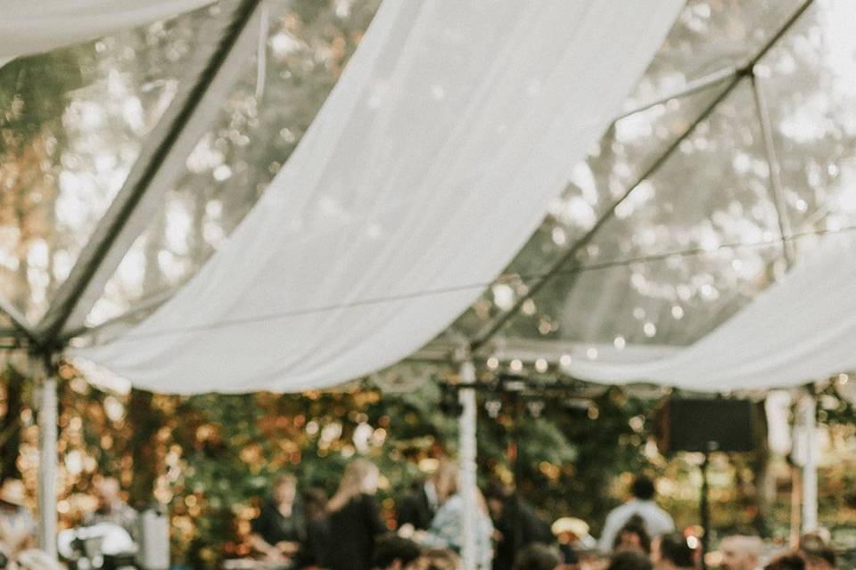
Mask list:
[[[652,382],[702,392],[787,387],[856,371],[856,240],[828,236],[711,334],[647,362],[573,361],[599,383]]]

